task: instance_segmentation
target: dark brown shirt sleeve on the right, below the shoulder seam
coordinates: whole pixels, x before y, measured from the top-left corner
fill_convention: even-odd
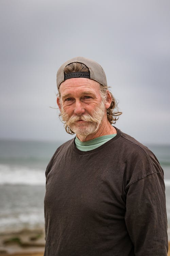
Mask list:
[[[167,215],[162,174],[150,174],[129,186],[125,223],[136,256],[167,255]]]

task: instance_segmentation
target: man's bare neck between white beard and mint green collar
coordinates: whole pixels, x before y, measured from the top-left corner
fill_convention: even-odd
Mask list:
[[[91,133],[86,136],[83,136],[82,134],[81,135],[76,134],[76,136],[80,141],[84,142],[84,141],[92,140],[104,135],[115,134],[115,133],[117,133],[115,127],[113,127],[109,122],[106,122],[106,123],[102,122],[95,133]]]

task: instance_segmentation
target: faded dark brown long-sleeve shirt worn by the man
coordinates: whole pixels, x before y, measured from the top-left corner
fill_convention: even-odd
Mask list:
[[[46,170],[45,256],[166,256],[163,170],[154,154],[117,129],[91,151],[74,139]]]

